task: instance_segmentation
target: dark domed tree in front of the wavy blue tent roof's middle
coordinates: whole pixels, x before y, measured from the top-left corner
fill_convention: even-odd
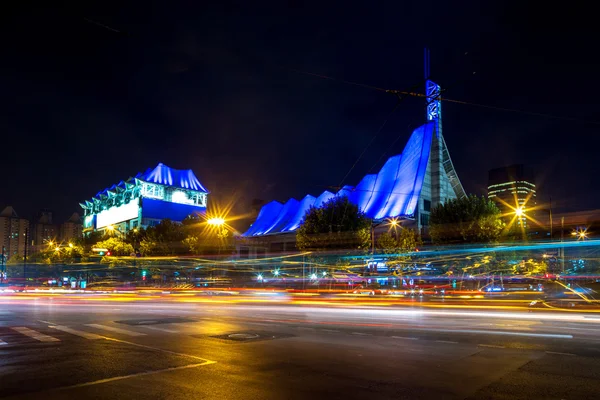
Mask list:
[[[336,196],[306,212],[296,232],[296,245],[301,250],[367,249],[371,223],[347,197]]]

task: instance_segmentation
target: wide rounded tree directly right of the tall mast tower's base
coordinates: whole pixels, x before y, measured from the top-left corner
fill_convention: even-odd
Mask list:
[[[434,243],[481,243],[498,239],[504,228],[500,209],[485,197],[451,199],[431,210]]]

